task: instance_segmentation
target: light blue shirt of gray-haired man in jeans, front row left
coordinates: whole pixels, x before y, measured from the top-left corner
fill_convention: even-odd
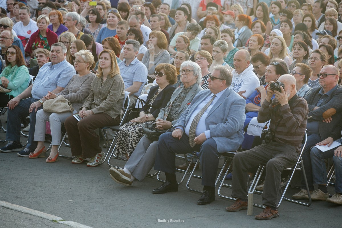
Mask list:
[[[75,68],[65,59],[54,65],[45,63],[39,69],[36,80],[32,85],[32,97],[41,99],[48,91],[53,91],[57,86],[65,88],[74,75],[76,75]]]

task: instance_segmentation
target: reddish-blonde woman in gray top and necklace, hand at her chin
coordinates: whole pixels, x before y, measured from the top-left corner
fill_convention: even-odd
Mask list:
[[[166,50],[168,47],[168,40],[161,31],[152,31],[149,34],[148,50],[145,52],[142,63],[147,68],[148,80],[153,82],[156,78],[154,75],[155,66],[160,63],[170,63],[170,54]]]

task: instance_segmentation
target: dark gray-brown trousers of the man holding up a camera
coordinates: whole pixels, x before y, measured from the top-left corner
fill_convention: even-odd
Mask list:
[[[232,197],[247,199],[248,171],[259,164],[266,164],[262,204],[277,207],[282,195],[281,172],[292,167],[298,160],[294,146],[271,142],[239,152],[233,159]]]

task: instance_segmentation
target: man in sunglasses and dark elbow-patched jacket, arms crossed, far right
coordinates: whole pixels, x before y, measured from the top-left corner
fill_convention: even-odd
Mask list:
[[[321,87],[314,88],[311,94],[305,97],[309,106],[309,113],[307,117],[307,142],[302,158],[311,199],[325,201],[329,198],[327,186],[326,183],[319,182],[319,179],[313,175],[315,161],[312,157],[311,148],[324,139],[333,137],[331,136],[332,132],[342,118],[342,86],[337,84],[339,70],[332,65],[324,66],[317,77]],[[337,138],[333,137],[333,139],[336,140]],[[324,153],[323,156],[328,156],[328,153]],[[314,185],[317,184],[318,189],[314,190]],[[308,193],[305,189],[302,176],[302,190],[294,194],[292,198],[308,199]]]

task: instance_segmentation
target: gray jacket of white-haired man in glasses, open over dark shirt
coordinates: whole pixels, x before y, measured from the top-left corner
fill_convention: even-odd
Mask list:
[[[165,108],[162,108],[159,112],[159,115],[157,117],[157,119],[164,119],[164,115],[165,115],[165,110],[175,101],[175,99],[177,98],[177,96],[180,94],[180,92],[183,90],[184,86],[180,86],[178,87],[172,94],[171,99],[169,101],[169,103],[166,105]],[[195,84],[193,86],[193,88],[190,90],[190,92],[188,93],[188,95],[186,95],[184,102],[181,106],[181,108],[178,111],[178,115],[177,115],[177,119],[172,121],[172,125],[176,124],[178,118],[181,116],[182,112],[189,106],[189,103],[191,103],[191,101],[194,99],[195,95],[199,92],[203,90],[201,88],[201,86],[199,84]],[[157,120],[156,119],[156,120]]]

